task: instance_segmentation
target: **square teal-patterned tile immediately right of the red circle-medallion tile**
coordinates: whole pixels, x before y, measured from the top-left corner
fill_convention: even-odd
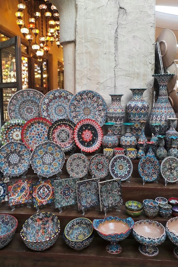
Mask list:
[[[79,178],[68,178],[54,181],[55,208],[77,204],[77,185]]]

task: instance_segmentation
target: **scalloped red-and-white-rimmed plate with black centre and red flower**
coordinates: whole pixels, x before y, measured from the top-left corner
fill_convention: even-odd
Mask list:
[[[95,120],[81,120],[74,129],[76,145],[84,152],[97,150],[101,146],[102,138],[101,126]]]

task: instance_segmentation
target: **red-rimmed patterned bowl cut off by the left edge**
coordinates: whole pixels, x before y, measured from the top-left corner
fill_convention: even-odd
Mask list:
[[[0,214],[0,249],[12,240],[17,229],[17,219],[9,214]]]

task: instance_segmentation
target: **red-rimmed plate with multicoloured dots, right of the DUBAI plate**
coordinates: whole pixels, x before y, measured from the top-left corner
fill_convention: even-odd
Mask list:
[[[22,128],[22,142],[31,150],[39,144],[48,141],[48,130],[52,123],[45,118],[34,118],[25,123]]]

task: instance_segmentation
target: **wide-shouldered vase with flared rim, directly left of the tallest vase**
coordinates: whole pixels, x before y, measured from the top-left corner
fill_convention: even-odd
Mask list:
[[[149,105],[143,99],[143,92],[146,89],[130,89],[133,93],[132,99],[126,105],[126,113],[129,122],[135,123],[131,127],[131,132],[135,136],[141,135],[140,121],[147,120]]]

